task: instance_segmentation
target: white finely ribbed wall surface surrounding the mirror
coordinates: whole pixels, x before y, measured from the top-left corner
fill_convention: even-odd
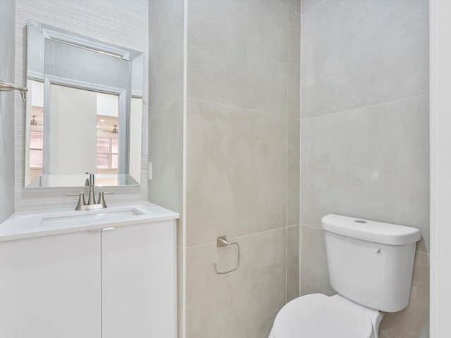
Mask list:
[[[35,20],[93,37],[104,42],[144,52],[143,99],[147,102],[148,82],[148,1],[147,0],[17,0],[16,1],[16,82],[25,84],[26,23]],[[3,13],[3,12],[2,12]],[[147,200],[147,106],[142,110],[142,151],[140,187],[115,187],[107,203]],[[25,104],[16,96],[16,211],[75,206],[68,192],[80,189],[24,189]]]

